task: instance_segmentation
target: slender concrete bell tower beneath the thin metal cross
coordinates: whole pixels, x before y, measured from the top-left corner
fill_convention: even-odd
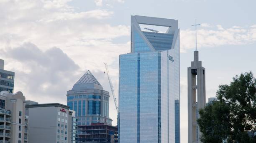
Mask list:
[[[205,107],[205,68],[198,59],[198,51],[194,51],[194,61],[191,62],[191,67],[187,68],[188,143],[201,143],[197,118],[200,118],[198,111]]]

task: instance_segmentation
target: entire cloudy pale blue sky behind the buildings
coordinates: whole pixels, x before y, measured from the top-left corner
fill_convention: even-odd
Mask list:
[[[67,90],[88,69],[110,91],[108,63],[118,93],[118,55],[130,50],[131,15],[179,20],[181,132],[187,142],[187,67],[195,49],[206,68],[207,98],[233,76],[256,75],[254,0],[0,0],[0,59],[15,72],[27,100],[66,104]],[[110,116],[116,123],[113,100]]]

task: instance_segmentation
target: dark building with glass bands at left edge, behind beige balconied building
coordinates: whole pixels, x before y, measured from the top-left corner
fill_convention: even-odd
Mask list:
[[[0,59],[0,91],[13,93],[14,72],[4,70],[4,60]]]

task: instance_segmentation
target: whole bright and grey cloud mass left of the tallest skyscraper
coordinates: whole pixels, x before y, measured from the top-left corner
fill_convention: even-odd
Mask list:
[[[110,10],[95,7],[78,12],[69,5],[71,1],[0,1],[0,50],[4,51],[0,55],[5,69],[15,72],[14,90],[22,91],[27,99],[66,104],[66,91],[88,69],[110,91],[104,62],[109,64],[118,93],[114,69],[118,69],[118,55],[130,48],[128,41],[115,44],[113,40],[129,40],[130,27],[105,22],[113,15]],[[111,102],[110,115],[116,123]]]

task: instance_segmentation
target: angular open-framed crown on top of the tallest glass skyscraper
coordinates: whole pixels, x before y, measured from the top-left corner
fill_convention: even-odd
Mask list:
[[[142,31],[140,25],[167,27],[165,33]],[[131,15],[131,52],[155,52],[174,49],[179,38],[178,21],[173,19]]]

